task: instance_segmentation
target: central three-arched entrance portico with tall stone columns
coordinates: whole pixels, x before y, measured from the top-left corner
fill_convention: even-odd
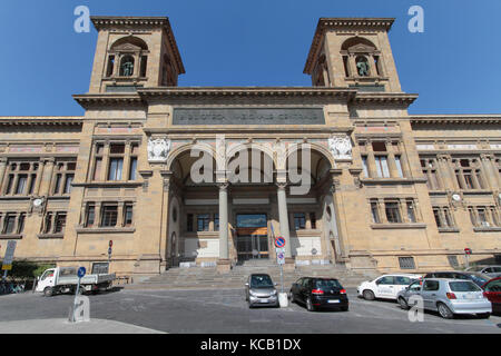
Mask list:
[[[336,260],[334,158],[326,144],[226,139],[222,147],[216,138],[170,144],[167,265],[224,270],[253,259],[273,264],[276,236],[287,240],[289,266]],[[194,170],[206,180],[194,181]],[[307,177],[306,192],[294,192],[301,188],[297,177]]]

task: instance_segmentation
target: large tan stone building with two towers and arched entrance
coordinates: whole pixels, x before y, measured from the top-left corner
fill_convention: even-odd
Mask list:
[[[274,263],[283,236],[287,268],[426,271],[465,247],[499,260],[501,116],[409,115],[393,19],[321,19],[308,88],[177,87],[167,18],[92,22],[89,91],[73,96],[85,116],[0,118],[2,256],[14,239],[18,259],[90,270],[112,240],[117,274],[225,271]],[[243,152],[262,162],[243,168],[249,182],[234,179]]]

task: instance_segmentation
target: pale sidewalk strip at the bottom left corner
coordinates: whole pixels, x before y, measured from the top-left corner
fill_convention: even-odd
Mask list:
[[[114,320],[90,319],[69,323],[67,319],[1,322],[0,334],[166,334],[146,327]]]

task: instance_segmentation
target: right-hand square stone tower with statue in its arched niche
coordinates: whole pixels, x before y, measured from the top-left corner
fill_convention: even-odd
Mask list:
[[[401,92],[389,40],[394,19],[322,18],[304,73],[316,87]]]

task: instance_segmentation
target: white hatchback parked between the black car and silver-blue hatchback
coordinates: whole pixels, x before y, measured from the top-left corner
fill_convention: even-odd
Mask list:
[[[399,291],[405,289],[411,283],[423,278],[420,275],[391,274],[383,275],[374,280],[362,281],[356,288],[358,297],[367,300],[375,298],[395,299]]]

